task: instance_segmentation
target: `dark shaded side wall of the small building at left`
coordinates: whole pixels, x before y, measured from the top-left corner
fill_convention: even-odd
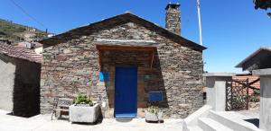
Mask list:
[[[41,64],[16,59],[13,115],[33,117],[40,114]]]

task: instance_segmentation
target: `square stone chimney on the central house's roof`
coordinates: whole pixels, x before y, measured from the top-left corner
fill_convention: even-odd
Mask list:
[[[177,35],[181,35],[181,13],[180,4],[169,3],[165,10],[165,29]]]

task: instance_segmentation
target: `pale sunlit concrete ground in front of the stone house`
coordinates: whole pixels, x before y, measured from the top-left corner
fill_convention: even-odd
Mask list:
[[[104,118],[97,125],[71,124],[67,120],[51,120],[51,115],[19,118],[0,110],[1,131],[182,131],[182,119],[165,119],[164,123],[146,123],[144,118],[129,121]]]

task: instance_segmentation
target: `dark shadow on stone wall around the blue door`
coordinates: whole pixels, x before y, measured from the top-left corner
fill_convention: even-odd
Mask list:
[[[106,82],[107,99],[110,109],[115,107],[115,67],[137,66],[137,108],[145,109],[149,106],[169,108],[164,86],[164,79],[160,66],[157,50],[153,52],[134,50],[103,50],[101,54],[101,68],[109,73],[109,81]],[[152,65],[152,68],[151,68]],[[163,100],[150,102],[148,92],[162,91]]]

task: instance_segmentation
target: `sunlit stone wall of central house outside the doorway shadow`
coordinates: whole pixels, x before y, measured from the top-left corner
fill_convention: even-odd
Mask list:
[[[86,92],[93,100],[106,102],[107,107],[103,108],[104,110],[110,109],[108,100],[111,100],[111,97],[107,95],[107,85],[98,81],[99,61],[96,46],[112,43],[99,42],[97,39],[154,40],[156,42],[154,46],[157,49],[154,71],[150,74],[161,79],[158,83],[152,81],[144,83],[146,86],[140,86],[138,83],[137,91],[143,90],[140,87],[145,87],[144,92],[153,90],[153,87],[157,90],[164,90],[164,101],[158,105],[164,110],[166,118],[185,118],[196,109],[201,108],[203,104],[201,51],[182,46],[171,39],[164,38],[156,31],[145,29],[133,22],[102,31],[89,32],[92,33],[86,36],[77,36],[77,32],[74,32],[72,37],[74,39],[44,47],[41,81],[42,113],[51,112],[52,101],[55,97],[73,98],[78,93]],[[53,43],[51,44],[53,45]],[[183,45],[185,44],[183,43]],[[117,54],[125,55],[126,52],[118,51],[115,55]],[[108,58],[110,59],[110,57]],[[145,71],[147,65],[149,65],[147,62],[139,64],[138,74],[149,73],[149,71]],[[104,65],[102,69],[114,72],[114,66],[112,66]],[[111,81],[114,82],[114,80]],[[144,103],[142,104],[144,105]]]

